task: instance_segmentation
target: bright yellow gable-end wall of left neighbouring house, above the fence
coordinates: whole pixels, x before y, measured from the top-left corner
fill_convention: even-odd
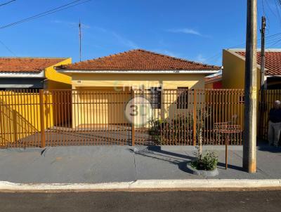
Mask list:
[[[71,58],[67,58],[62,62],[58,62],[57,64],[52,65],[51,67],[47,67],[45,69],[45,77],[46,77],[46,88],[48,89],[64,89],[71,88],[71,77],[66,74],[61,74],[55,71],[53,67],[59,65],[67,65],[72,62]]]

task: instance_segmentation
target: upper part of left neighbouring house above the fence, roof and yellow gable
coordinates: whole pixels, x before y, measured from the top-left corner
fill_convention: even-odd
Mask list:
[[[71,88],[70,77],[53,68],[70,63],[71,58],[0,58],[0,89]]]

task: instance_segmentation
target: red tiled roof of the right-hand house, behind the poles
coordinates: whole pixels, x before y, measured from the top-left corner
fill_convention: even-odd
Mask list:
[[[245,57],[245,51],[235,51],[235,53]],[[266,53],[266,75],[281,75],[281,49],[279,51],[267,50]],[[261,52],[257,53],[257,63],[261,64]]]

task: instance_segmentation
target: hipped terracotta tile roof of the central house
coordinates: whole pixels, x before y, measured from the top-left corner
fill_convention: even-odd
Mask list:
[[[77,70],[219,70],[221,67],[205,65],[141,49],[125,51],[103,58],[62,65],[58,69]]]

